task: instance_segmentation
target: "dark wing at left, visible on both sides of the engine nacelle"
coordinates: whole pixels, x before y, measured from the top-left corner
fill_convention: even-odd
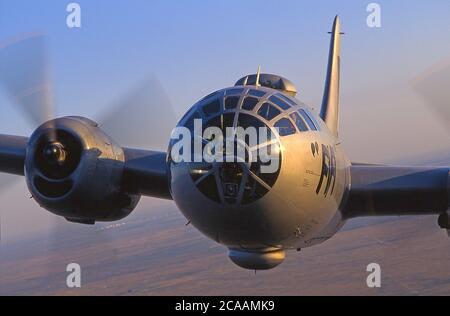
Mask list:
[[[0,172],[24,175],[28,138],[0,135]],[[123,190],[172,199],[166,169],[166,153],[124,148]]]

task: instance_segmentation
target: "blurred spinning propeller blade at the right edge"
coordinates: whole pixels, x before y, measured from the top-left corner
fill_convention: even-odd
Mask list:
[[[441,61],[412,81],[413,89],[450,129],[450,59]]]

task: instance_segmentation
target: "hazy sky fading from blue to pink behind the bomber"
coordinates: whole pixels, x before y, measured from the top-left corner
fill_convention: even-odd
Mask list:
[[[81,29],[66,26],[69,2],[0,0],[0,42],[36,30],[48,35],[58,116],[95,117],[150,73],[181,116],[258,65],[292,80],[299,98],[317,109],[327,31],[339,14],[346,32],[341,137],[350,158],[379,162],[450,148],[448,122],[410,87],[450,57],[448,0],[378,1],[379,29],[366,25],[371,1],[83,0]],[[1,89],[0,104],[0,133],[29,135],[33,127]],[[8,236],[30,231],[19,220],[25,214],[36,217],[35,230],[48,219],[25,192],[22,183],[0,196],[2,204],[8,200]]]

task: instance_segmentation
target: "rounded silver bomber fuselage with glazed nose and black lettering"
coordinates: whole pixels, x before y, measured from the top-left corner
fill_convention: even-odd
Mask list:
[[[212,122],[203,128],[266,126],[280,155],[268,175],[255,169],[257,162],[239,167],[169,158],[173,199],[203,234],[232,250],[264,253],[309,247],[342,227],[350,162],[311,108],[283,91],[245,85],[202,99],[178,126],[192,130],[194,118]]]

